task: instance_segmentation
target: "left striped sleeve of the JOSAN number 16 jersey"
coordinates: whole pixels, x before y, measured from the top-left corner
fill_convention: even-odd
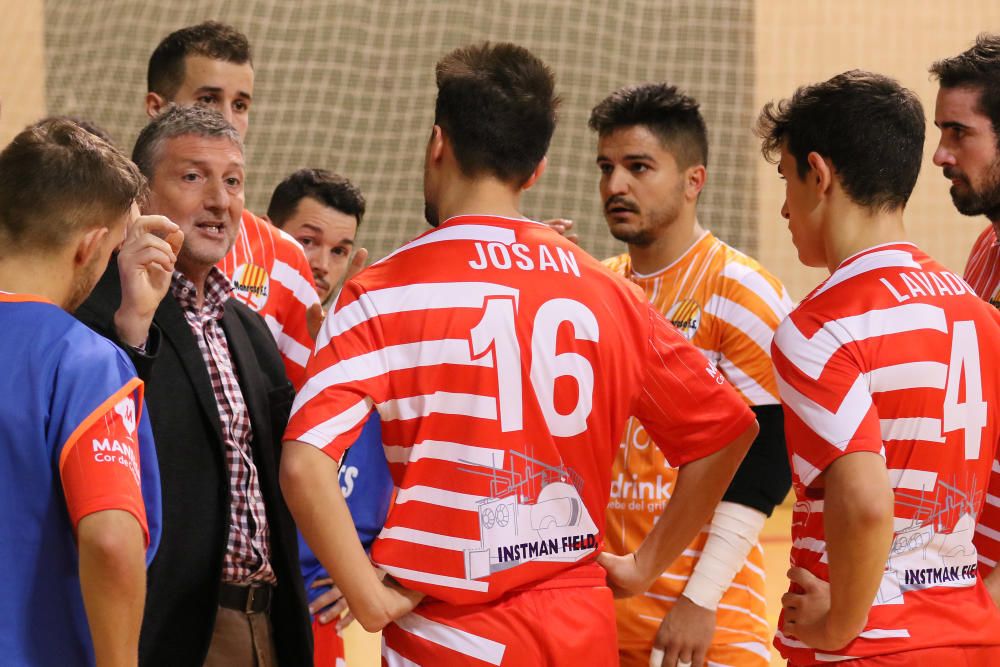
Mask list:
[[[313,445],[340,460],[357,440],[373,406],[386,398],[386,350],[381,339],[371,301],[357,283],[346,283],[316,341],[285,440]]]

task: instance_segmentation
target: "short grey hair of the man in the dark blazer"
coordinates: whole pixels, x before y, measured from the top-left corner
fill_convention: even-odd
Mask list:
[[[163,113],[150,120],[139,132],[132,149],[132,161],[146,178],[152,180],[163,142],[188,134],[229,139],[243,151],[239,132],[215,109],[169,104]]]

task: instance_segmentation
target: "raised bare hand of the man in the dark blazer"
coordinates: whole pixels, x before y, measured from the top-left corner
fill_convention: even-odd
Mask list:
[[[115,313],[115,330],[127,345],[146,342],[160,301],[170,289],[174,263],[184,234],[162,215],[138,217],[118,253],[122,303]]]

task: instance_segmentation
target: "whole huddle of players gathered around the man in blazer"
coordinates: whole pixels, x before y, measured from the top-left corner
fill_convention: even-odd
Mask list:
[[[131,159],[68,117],[0,152],[3,663],[342,667],[357,620],[390,667],[1000,664],[1000,37],[930,71],[965,275],[906,240],[919,100],[852,70],[754,127],[830,273],[796,305],[699,219],[674,86],[591,112],[602,262],[521,213],[552,71],[448,53],[431,229],[365,267],[344,176],[245,208],[246,37],[171,33]]]

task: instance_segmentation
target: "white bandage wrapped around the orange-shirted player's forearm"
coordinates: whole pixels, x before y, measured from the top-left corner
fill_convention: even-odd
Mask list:
[[[726,501],[719,503],[701,558],[684,587],[684,597],[699,607],[715,611],[757,543],[766,518],[763,512],[752,507]]]

